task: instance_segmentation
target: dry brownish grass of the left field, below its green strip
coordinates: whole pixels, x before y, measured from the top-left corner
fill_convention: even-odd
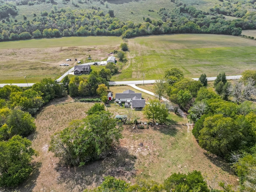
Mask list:
[[[57,48],[22,48],[0,49],[0,83],[29,83],[40,82],[43,78],[57,79],[69,68],[77,64],[77,60],[86,60],[90,55],[93,60],[101,61],[116,46],[72,46]],[[71,58],[72,61],[66,61]],[[68,63],[69,66],[60,66]]]

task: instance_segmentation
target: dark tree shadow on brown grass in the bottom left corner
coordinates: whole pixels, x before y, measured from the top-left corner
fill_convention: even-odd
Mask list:
[[[30,174],[28,180],[20,184],[17,191],[19,192],[28,192],[32,191],[36,186],[36,180],[40,174],[39,168],[42,166],[41,162],[32,162],[33,172]]]

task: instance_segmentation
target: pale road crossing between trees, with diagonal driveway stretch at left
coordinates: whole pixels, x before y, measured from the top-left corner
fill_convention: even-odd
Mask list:
[[[68,70],[65,74],[63,74],[60,78],[57,79],[58,82],[60,82],[64,76],[68,75],[68,73],[72,72],[72,70],[74,70],[74,67],[71,68],[70,70]],[[242,75],[233,75],[233,76],[226,76],[227,79],[240,79],[242,77]],[[194,80],[198,81],[198,78],[192,78]],[[208,81],[214,81],[216,79],[216,77],[208,77],[207,80]],[[131,84],[152,84],[154,83],[155,80],[137,80],[137,81],[110,81],[109,84],[110,85],[131,85]],[[12,85],[17,85],[19,87],[27,87],[27,86],[32,86],[34,83],[12,83]],[[10,83],[7,84],[0,84],[0,87],[3,87],[5,85],[10,85]]]

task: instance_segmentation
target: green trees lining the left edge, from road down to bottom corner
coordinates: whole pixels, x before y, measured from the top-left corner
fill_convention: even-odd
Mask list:
[[[17,186],[33,171],[31,160],[36,152],[25,138],[36,130],[32,115],[65,94],[64,86],[47,78],[31,88],[0,88],[0,186]]]

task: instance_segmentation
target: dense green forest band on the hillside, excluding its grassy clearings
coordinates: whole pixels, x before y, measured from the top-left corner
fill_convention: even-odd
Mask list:
[[[30,38],[52,38],[62,36],[134,36],[174,34],[174,33],[208,33],[240,35],[243,29],[255,29],[254,1],[228,1],[210,8],[208,12],[186,6],[181,1],[172,0],[176,8],[160,8],[161,20],[143,18],[144,22],[134,24],[122,22],[114,15],[114,10],[105,14],[100,8],[91,9],[58,9],[53,6],[50,12],[34,13],[32,20],[23,16],[23,21],[13,20],[18,14],[17,6],[26,1],[0,2],[0,41]],[[30,2],[27,2],[31,4]],[[32,2],[31,6],[40,1]],[[226,20],[225,16],[235,16]]]

